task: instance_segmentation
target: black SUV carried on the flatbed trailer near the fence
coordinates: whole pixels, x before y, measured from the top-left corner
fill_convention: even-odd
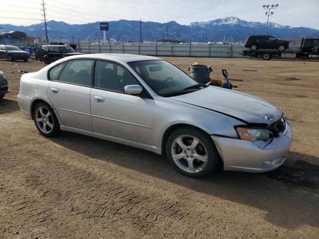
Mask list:
[[[289,41],[280,40],[271,35],[252,35],[247,38],[245,47],[253,51],[258,49],[277,49],[284,51],[289,48]]]

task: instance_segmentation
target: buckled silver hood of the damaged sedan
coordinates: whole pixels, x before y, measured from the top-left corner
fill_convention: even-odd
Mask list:
[[[261,98],[213,86],[169,99],[216,111],[248,123],[269,124],[282,116],[280,110]],[[267,116],[272,120],[269,121]]]

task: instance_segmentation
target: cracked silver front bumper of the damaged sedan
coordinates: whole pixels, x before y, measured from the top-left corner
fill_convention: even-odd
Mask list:
[[[221,136],[211,138],[223,160],[224,170],[261,173],[284,163],[293,140],[293,130],[287,122],[283,133],[266,142]]]

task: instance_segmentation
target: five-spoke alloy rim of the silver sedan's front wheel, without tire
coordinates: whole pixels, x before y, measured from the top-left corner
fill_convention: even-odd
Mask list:
[[[202,171],[208,162],[204,144],[191,135],[180,135],[171,144],[171,156],[181,170],[189,173]]]

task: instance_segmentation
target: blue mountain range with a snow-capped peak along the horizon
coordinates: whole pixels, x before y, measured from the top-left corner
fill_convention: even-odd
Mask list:
[[[11,24],[1,24],[4,30],[23,31],[28,36],[44,37],[44,23],[32,24],[28,26],[15,26]],[[48,36],[50,41],[71,40],[77,41],[87,39],[103,38],[100,31],[99,22],[86,24],[68,24],[63,21],[50,20],[47,22]],[[207,22],[191,22],[181,25],[175,21],[166,23],[143,21],[142,39],[151,41],[157,38],[180,39],[192,42],[222,41],[232,39],[233,41],[243,41],[252,34],[264,34],[266,23],[245,21],[234,16],[210,20]],[[283,39],[293,39],[302,36],[319,36],[319,30],[309,27],[283,26],[269,22],[268,34],[275,35]],[[118,20],[109,21],[109,31],[107,37],[118,41],[140,40],[140,21]]]

